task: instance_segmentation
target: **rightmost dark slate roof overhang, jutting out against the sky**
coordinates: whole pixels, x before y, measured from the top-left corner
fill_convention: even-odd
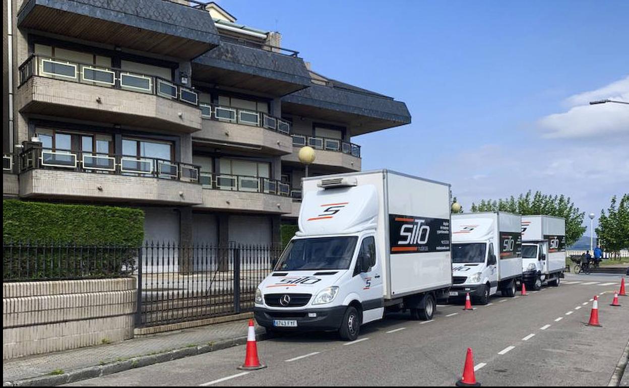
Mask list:
[[[344,123],[351,136],[411,122],[406,104],[391,97],[316,84],[282,97],[282,113]]]

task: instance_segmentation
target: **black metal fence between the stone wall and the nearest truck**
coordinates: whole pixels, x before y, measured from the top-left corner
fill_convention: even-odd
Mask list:
[[[281,248],[270,245],[147,243],[138,266],[136,326],[252,311],[255,289]]]

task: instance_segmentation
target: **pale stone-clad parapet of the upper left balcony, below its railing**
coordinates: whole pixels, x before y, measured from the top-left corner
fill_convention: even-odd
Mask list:
[[[154,94],[31,77],[17,93],[21,113],[152,128],[170,133],[201,130],[198,106]]]

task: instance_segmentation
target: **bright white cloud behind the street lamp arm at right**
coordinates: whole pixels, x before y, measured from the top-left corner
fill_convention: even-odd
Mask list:
[[[565,99],[571,108],[564,113],[545,116],[538,121],[544,138],[621,138],[629,137],[629,105],[589,101],[613,99],[629,101],[629,76],[594,91]]]

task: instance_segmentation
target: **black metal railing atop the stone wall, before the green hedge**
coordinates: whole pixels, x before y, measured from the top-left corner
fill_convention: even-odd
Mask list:
[[[131,276],[138,247],[3,239],[3,282]]]

